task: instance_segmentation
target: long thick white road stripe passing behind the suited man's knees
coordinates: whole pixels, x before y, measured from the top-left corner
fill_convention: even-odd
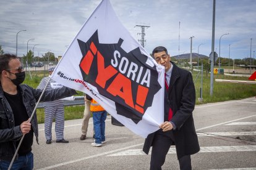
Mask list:
[[[244,145],[244,146],[224,146],[224,147],[200,147],[199,153],[213,153],[213,152],[252,152],[256,151],[256,145]],[[171,147],[168,154],[176,153],[176,148]],[[151,150],[150,153],[151,154]],[[107,156],[136,156],[146,155],[142,149],[131,149],[123,152],[114,153]]]

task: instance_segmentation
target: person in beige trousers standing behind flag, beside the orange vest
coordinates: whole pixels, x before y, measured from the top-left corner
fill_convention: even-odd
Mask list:
[[[89,119],[92,113],[92,111],[90,111],[91,100],[87,100],[86,95],[84,95],[84,100],[85,100],[85,110],[83,111],[82,135],[80,136],[80,140],[86,139]]]

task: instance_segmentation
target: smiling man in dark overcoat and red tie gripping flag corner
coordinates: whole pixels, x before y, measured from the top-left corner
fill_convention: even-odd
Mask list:
[[[145,139],[143,152],[148,154],[152,147],[150,169],[161,169],[174,144],[180,169],[192,169],[190,155],[200,150],[192,116],[195,107],[192,75],[170,61],[165,47],[156,47],[152,55],[165,68],[164,123]]]

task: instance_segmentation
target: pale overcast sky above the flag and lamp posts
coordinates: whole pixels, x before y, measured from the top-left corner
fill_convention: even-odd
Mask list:
[[[135,39],[140,39],[140,27],[145,29],[145,49],[151,53],[156,46],[165,46],[169,54],[190,52],[190,37],[194,36],[193,52],[209,55],[211,52],[213,0],[109,0],[122,24]],[[53,52],[64,54],[83,23],[100,4],[100,0],[1,0],[0,45],[5,53],[18,55],[28,50],[35,55]],[[242,59],[256,51],[256,0],[216,0],[215,51],[221,57]],[[180,28],[179,28],[180,22]],[[180,34],[180,40],[179,40]],[[255,54],[256,55],[256,54]],[[256,56],[255,56],[256,58]]]

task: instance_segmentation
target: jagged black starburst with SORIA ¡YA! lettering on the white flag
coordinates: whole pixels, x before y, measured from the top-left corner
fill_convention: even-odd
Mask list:
[[[83,55],[79,65],[83,80],[113,100],[117,114],[139,123],[161,89],[155,65],[147,65],[148,57],[139,47],[124,51],[121,38],[116,44],[100,44],[95,31],[87,42],[77,41]]]

